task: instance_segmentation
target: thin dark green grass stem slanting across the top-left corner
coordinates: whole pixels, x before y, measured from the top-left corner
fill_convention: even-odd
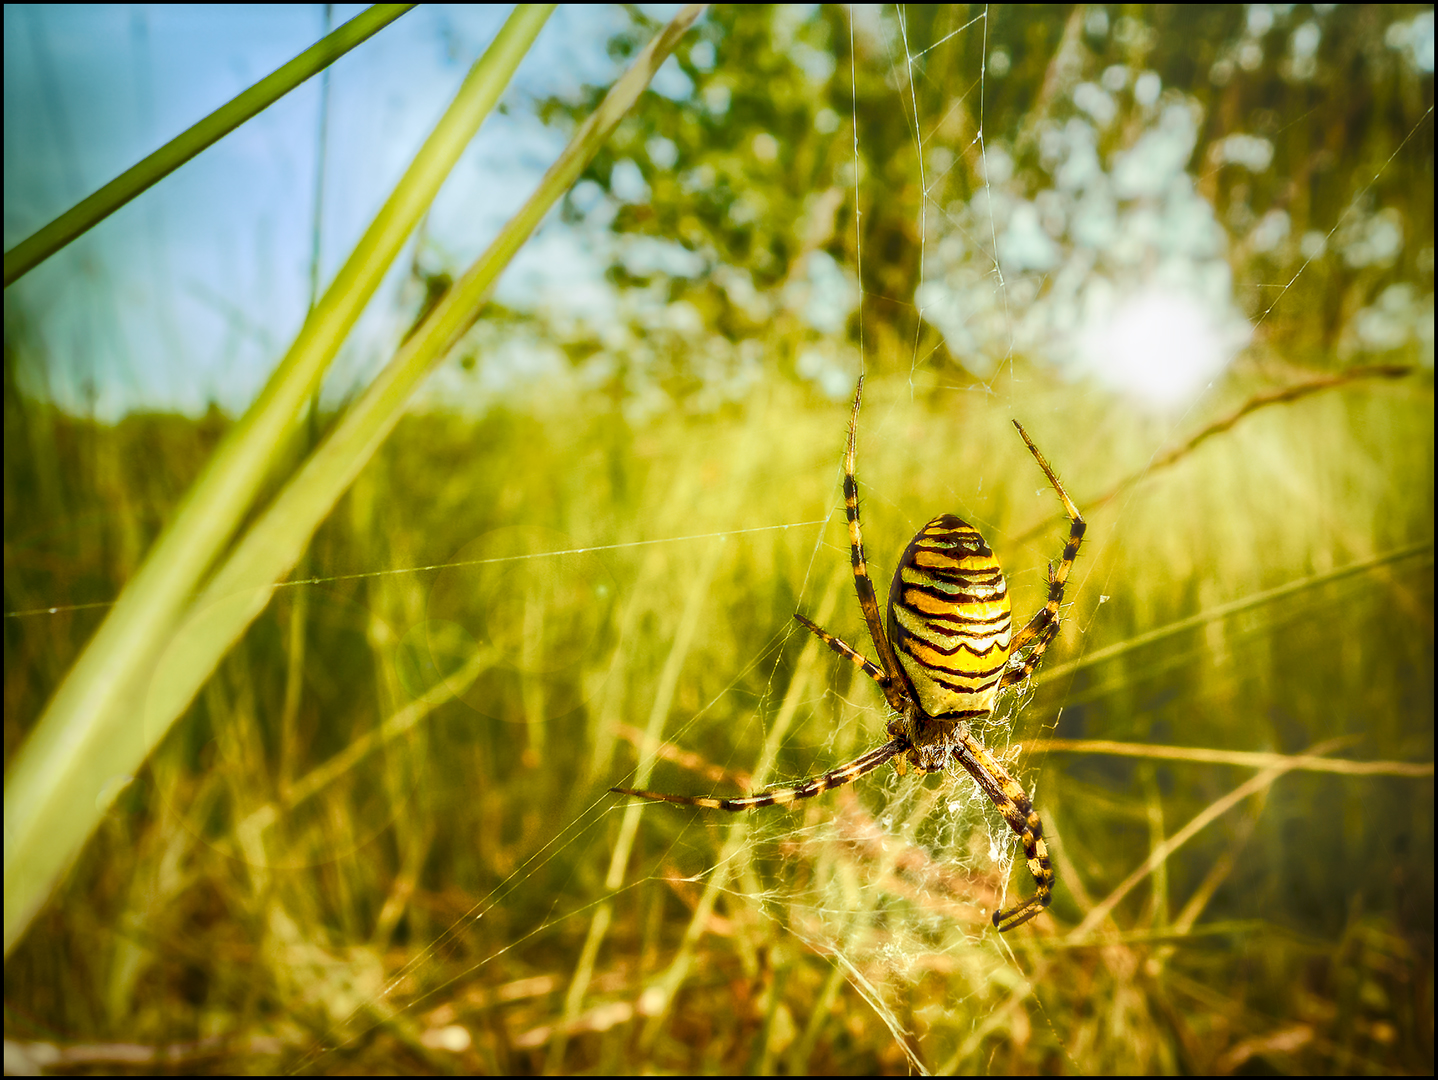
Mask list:
[[[416,4],[374,4],[326,35],[283,68],[266,75],[227,101],[194,127],[180,132],[137,165],[127,168],[99,191],[86,196],[39,232],[4,253],[4,286],[14,282],[83,236],[129,200],[148,191],[186,161],[219,142],[259,115],[311,76],[318,75],[355,46],[393,23]]]

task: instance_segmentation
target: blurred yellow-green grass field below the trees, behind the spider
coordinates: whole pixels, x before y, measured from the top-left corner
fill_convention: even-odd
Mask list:
[[[1214,416],[1244,388],[1228,398]],[[9,607],[112,595],[213,426],[7,403]],[[1009,411],[1080,505],[1152,453],[1117,403],[1037,377],[1004,407],[873,378],[880,578],[953,511],[1018,610],[1041,601],[1063,528],[1014,539],[1055,506]],[[597,400],[404,421],[318,535],[321,580],[279,592],[12,956],[12,1025],[187,1070],[1421,1071],[1431,772],[1288,772],[1087,925],[1261,769],[1044,745],[1431,762],[1431,546],[1324,577],[1431,536],[1429,388],[1261,410],[1089,512],[1050,673],[985,732],[1022,743],[1057,848],[1050,915],[1002,939],[986,915],[1014,846],[962,775],[738,820],[607,792],[651,761],[646,725],[676,791],[881,738],[877,690],[791,618],[863,636],[846,416],[777,383],[640,429]],[[47,476],[26,439],[55,447]],[[434,569],[377,572],[406,567]],[[98,617],[7,620],[10,745]]]

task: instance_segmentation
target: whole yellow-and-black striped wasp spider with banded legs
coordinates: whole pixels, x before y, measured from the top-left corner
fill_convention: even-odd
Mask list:
[[[952,513],[935,518],[915,536],[899,559],[889,587],[889,627],[879,617],[874,584],[864,561],[864,541],[858,525],[858,482],[854,479],[854,434],[858,427],[858,401],[864,380],[854,393],[854,411],[848,421],[848,449],[844,453],[844,509],[848,513],[848,544],[854,564],[854,588],[863,608],[869,636],[879,663],[853,646],[815,626],[804,615],[794,615],[830,649],[851,660],[879,683],[894,716],[889,720],[889,742],[823,777],[785,788],[741,798],[705,795],[669,795],[661,791],[613,788],[621,795],[663,802],[682,802],[712,810],[755,810],[788,805],[811,798],[841,784],[873,772],[892,758],[899,765],[913,765],[919,772],[938,772],[955,762],[968,769],[984,794],[994,800],[998,813],[1018,833],[1037,882],[1032,899],[1017,907],[994,913],[999,930],[1011,930],[1038,915],[1053,896],[1054,869],[1048,861],[1044,825],[1008,771],[994,758],[969,725],[994,712],[998,692],[1024,682],[1038,667],[1044,650],[1058,633],[1058,607],[1064,582],[1083,542],[1084,519],[1058,482],[1034,440],[1015,420],[1020,437],[1044,470],[1048,483],[1073,522],[1063,559],[1048,565],[1048,603],[1014,633],[1008,585],[994,551],[972,525]],[[1024,654],[1027,650],[1027,654]]]

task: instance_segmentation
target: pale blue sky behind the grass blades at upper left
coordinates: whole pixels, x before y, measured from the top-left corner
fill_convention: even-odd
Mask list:
[[[334,24],[360,10],[336,6]],[[331,68],[322,283],[509,10],[420,7]],[[562,138],[523,101],[610,82],[604,42],[623,17],[551,17],[505,98],[518,108],[486,121],[434,204],[427,234],[443,247],[426,269],[466,265],[529,194]],[[324,20],[322,6],[7,6],[6,247],[309,47]],[[664,76],[657,89],[683,92]],[[12,286],[7,337],[23,326],[45,362],[32,388],[101,418],[244,408],[309,303],[319,111],[315,78]],[[564,232],[536,237],[502,299],[528,303],[567,279],[594,288],[598,266]],[[349,370],[374,362],[413,309],[407,276],[404,259],[352,337]]]

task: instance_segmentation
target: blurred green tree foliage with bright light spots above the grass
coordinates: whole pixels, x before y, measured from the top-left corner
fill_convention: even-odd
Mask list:
[[[742,393],[755,354],[835,398],[850,380],[831,372],[851,371],[858,347],[880,370],[938,364],[986,378],[995,361],[1012,357],[1014,286],[1027,269],[1004,253],[1012,210],[1002,201],[1034,204],[1044,229],[1063,239],[1093,210],[1067,207],[1068,221],[1063,213],[1054,221],[1054,194],[1078,183],[1061,175],[1060,147],[1078,132],[1081,150],[1091,145],[1112,170],[1181,106],[1198,124],[1175,164],[1227,234],[1221,256],[1235,299],[1261,326],[1251,358],[1333,367],[1356,352],[1416,348],[1431,364],[1425,12],[716,7],[676,53],[690,92],[649,93],[567,211],[617,237],[613,275],[637,308],[634,338],[666,328],[660,315],[643,314],[646,301],[670,321],[677,305],[690,338],[702,326],[716,339],[710,349],[728,345],[732,355],[707,370],[673,355],[636,370],[634,341],[615,345],[613,334],[605,341],[564,314],[554,334],[571,347],[587,339],[581,354],[608,347],[633,393],[653,381],[700,408],[715,400],[696,398],[703,387],[736,384],[720,398]],[[651,27],[634,12],[633,30],[611,52],[628,55]],[[1431,17],[1426,33],[1431,42]],[[572,124],[598,93],[546,101],[541,115]],[[915,303],[922,275],[942,270],[933,260],[945,236],[971,252],[984,293],[962,298],[962,319],[1004,308],[975,344],[946,342],[942,318],[943,335],[919,315],[932,298]],[[1102,252],[1099,260],[1102,270]],[[1089,278],[1093,259],[1083,267]],[[1300,270],[1303,288],[1287,289]],[[1152,272],[1139,266],[1117,283],[1132,289]],[[1063,285],[1048,273],[1030,288]],[[837,312],[820,299],[835,295]],[[1032,358],[1064,360],[1041,355],[1041,345],[1028,349],[1040,354]]]

